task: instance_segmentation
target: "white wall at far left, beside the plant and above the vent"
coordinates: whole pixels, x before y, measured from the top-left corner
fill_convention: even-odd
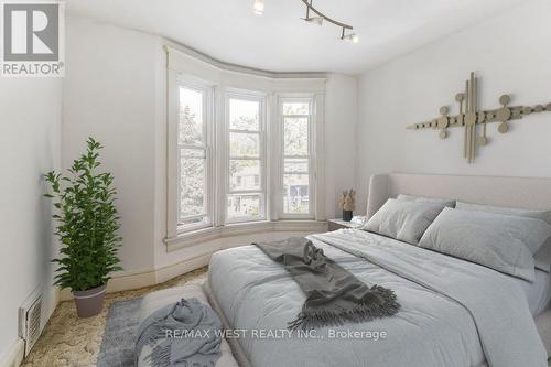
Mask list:
[[[56,256],[43,174],[60,165],[62,80],[0,79],[0,361],[18,338],[18,307],[36,289],[42,321],[55,306]]]

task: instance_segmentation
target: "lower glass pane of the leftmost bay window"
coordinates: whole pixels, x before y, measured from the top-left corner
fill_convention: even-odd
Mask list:
[[[203,150],[180,150],[180,217],[205,213],[206,159]]]

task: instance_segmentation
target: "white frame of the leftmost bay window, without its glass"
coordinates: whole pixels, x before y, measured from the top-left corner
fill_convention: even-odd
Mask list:
[[[182,144],[180,142],[180,88],[203,94],[203,142],[199,144]],[[168,166],[168,212],[171,218],[168,223],[168,233],[173,235],[186,234],[215,226],[215,89],[214,85],[193,76],[176,74],[169,80],[169,166]],[[198,223],[184,225],[181,223],[181,150],[191,149],[204,151],[204,213],[187,216],[187,219],[201,217]],[[172,193],[172,195],[171,195]],[[172,198],[172,199],[171,199]]]

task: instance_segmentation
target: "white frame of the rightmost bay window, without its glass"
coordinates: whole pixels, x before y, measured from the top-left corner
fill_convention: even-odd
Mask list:
[[[307,102],[309,115],[284,115],[283,105],[288,102]],[[278,96],[278,218],[280,219],[314,219],[316,217],[316,100],[314,94],[281,94]],[[283,205],[283,175],[285,158],[292,159],[295,156],[285,155],[284,152],[284,121],[285,118],[307,118],[309,130],[309,149],[307,149],[307,164],[309,164],[309,212],[307,213],[285,213]],[[300,159],[304,159],[302,155]]]

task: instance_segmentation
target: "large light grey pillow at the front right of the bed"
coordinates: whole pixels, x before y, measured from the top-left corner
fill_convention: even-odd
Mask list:
[[[532,253],[550,236],[541,219],[445,208],[419,246],[533,281]]]

